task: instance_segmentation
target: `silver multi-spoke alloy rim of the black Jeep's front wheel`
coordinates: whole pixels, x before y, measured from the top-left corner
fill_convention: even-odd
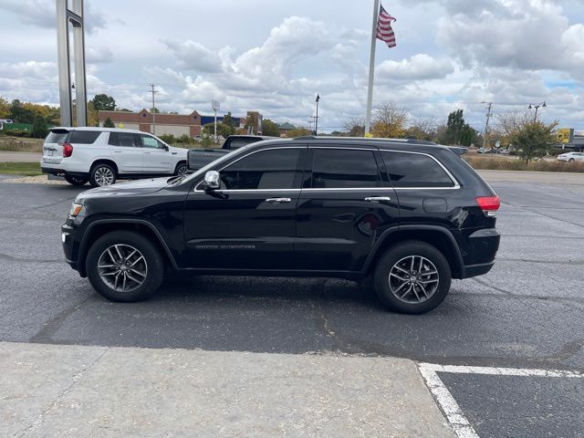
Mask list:
[[[111,245],[99,255],[98,273],[106,286],[118,292],[131,292],[146,280],[148,264],[133,246]]]

